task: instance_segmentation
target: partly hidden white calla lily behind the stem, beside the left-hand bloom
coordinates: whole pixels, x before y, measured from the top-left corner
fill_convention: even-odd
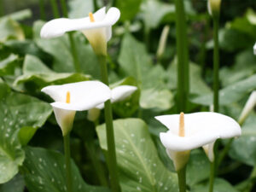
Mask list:
[[[128,96],[131,96],[131,94],[137,90],[136,86],[131,85],[120,85],[113,90],[111,90],[111,102],[121,102],[124,101]],[[96,108],[92,108],[88,111],[87,119],[90,121],[95,121],[98,119],[100,115],[100,110],[104,108],[104,103],[101,103],[100,105],[96,106]]]

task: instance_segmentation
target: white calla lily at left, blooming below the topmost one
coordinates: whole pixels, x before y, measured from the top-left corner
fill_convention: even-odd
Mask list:
[[[42,91],[55,100],[50,104],[54,108],[55,118],[63,136],[71,131],[76,111],[96,108],[111,98],[111,90],[99,81],[50,85]]]

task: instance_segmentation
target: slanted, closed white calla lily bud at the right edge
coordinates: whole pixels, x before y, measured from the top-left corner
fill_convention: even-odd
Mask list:
[[[253,110],[254,106],[256,105],[256,91],[254,90],[251,96],[248,98],[246,105],[242,109],[241,115],[239,117],[239,124],[242,125],[249,113]]]

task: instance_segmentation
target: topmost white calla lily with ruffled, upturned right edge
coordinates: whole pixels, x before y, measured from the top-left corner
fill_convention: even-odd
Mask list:
[[[99,9],[95,14],[80,19],[60,18],[47,22],[42,30],[42,38],[55,38],[65,32],[80,31],[88,38],[96,54],[107,55],[107,42],[112,37],[112,26],[119,20],[120,11],[110,8]]]

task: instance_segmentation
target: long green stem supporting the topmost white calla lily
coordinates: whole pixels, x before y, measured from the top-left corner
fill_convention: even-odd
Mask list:
[[[108,67],[107,57],[105,55],[98,55],[98,60],[101,65],[102,82],[108,84]],[[105,121],[106,121],[106,133],[108,143],[108,172],[110,174],[110,184],[113,192],[119,192],[119,175],[115,153],[114,133],[113,133],[113,116],[111,102],[108,100],[105,104]]]

